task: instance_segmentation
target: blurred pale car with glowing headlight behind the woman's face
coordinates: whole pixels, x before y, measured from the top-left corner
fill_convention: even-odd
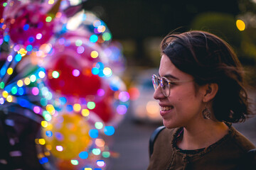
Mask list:
[[[146,69],[137,72],[132,83],[132,88],[137,90],[137,96],[131,100],[130,113],[137,122],[162,123],[158,101],[153,98],[154,87],[152,74],[157,74],[158,69]]]

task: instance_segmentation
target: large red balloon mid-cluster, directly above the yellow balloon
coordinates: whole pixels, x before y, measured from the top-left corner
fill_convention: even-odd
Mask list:
[[[53,67],[47,71],[50,89],[65,96],[81,98],[97,94],[97,90],[102,86],[101,78],[92,74],[92,66],[90,66],[92,64],[87,64],[84,67],[81,62],[82,60],[78,60],[69,54],[58,56]],[[54,71],[59,73],[57,79],[55,79],[56,72]]]

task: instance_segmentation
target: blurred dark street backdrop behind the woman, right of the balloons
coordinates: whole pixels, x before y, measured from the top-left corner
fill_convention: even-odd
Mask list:
[[[161,125],[159,108],[153,99],[151,74],[158,72],[159,44],[173,30],[206,30],[233,46],[247,72],[250,98],[256,103],[256,1],[152,1],[94,0],[83,8],[93,11],[112,30],[123,47],[126,72],[122,77],[132,96],[126,118],[114,135],[118,157],[110,169],[146,169],[151,132]],[[256,144],[256,120],[234,125]]]

